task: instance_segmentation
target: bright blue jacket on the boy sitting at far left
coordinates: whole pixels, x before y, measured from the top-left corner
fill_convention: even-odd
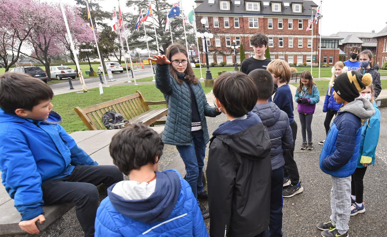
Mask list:
[[[41,184],[71,174],[77,165],[97,165],[59,125],[55,111],[46,120],[24,119],[0,109],[2,183],[22,220],[43,213]]]

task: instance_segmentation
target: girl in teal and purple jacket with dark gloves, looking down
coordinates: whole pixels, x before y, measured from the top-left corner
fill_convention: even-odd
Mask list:
[[[300,85],[294,95],[294,100],[298,103],[297,111],[301,122],[302,144],[300,149],[313,150],[311,125],[316,103],[320,101],[320,94],[309,71],[303,71],[300,77]]]

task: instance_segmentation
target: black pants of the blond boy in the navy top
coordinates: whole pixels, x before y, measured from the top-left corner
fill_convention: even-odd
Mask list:
[[[284,177],[289,177],[291,185],[296,185],[298,184],[298,181],[300,181],[300,174],[298,174],[297,164],[294,160],[294,147],[296,145],[297,137],[296,121],[293,121],[293,123],[290,124],[290,128],[293,135],[293,147],[289,152],[284,152]]]

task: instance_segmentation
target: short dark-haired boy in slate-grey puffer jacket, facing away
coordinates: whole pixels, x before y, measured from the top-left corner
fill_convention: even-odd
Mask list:
[[[282,191],[284,171],[284,152],[293,146],[293,136],[286,112],[273,102],[268,102],[273,91],[273,79],[265,69],[255,69],[248,74],[257,85],[258,100],[252,112],[256,113],[267,127],[271,142],[271,236],[282,236]]]

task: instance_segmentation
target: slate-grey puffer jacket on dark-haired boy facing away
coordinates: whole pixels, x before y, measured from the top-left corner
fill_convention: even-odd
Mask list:
[[[290,151],[293,146],[288,115],[274,102],[255,105],[251,112],[259,116],[269,132],[271,170],[278,169],[285,164],[284,152]]]

